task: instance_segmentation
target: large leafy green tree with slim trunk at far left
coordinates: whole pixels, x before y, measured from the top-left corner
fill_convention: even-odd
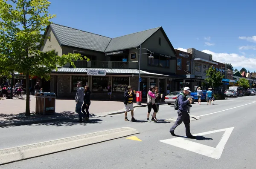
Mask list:
[[[29,110],[29,78],[38,76],[50,79],[50,73],[57,66],[83,58],[80,54],[61,57],[55,51],[41,52],[45,35],[41,32],[56,15],[49,14],[48,0],[0,0],[0,74],[10,72],[26,75],[26,113]],[[38,45],[38,43],[40,45]]]

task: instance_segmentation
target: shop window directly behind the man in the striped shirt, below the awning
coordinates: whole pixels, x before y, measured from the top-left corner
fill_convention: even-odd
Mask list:
[[[129,77],[113,77],[113,92],[125,92],[129,86]]]

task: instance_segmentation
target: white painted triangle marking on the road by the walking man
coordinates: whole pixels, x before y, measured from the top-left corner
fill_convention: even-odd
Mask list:
[[[223,152],[223,149],[227,143],[228,138],[230,137],[234,127],[230,127],[227,129],[219,129],[219,130],[214,130],[210,132],[203,132],[203,133],[198,133],[195,135],[208,135],[212,133],[217,133],[217,132],[224,132],[223,136],[221,137],[221,140],[219,141],[218,145],[216,148],[211,147],[211,146],[206,146],[204,144],[200,143],[195,143],[193,141],[185,140],[183,137],[177,137],[177,138],[171,138],[167,140],[160,140],[160,142],[170,144],[172,146],[176,146],[182,149],[189,150],[191,152],[195,152],[201,155],[208,156],[210,158],[215,158],[219,159],[221,158],[221,154]]]

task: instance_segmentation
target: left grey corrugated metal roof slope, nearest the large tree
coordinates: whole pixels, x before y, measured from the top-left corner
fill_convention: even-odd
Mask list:
[[[110,37],[73,29],[55,23],[51,23],[50,26],[60,45],[104,52],[111,41]]]

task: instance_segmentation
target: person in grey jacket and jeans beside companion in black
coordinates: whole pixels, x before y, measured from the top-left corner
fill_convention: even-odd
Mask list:
[[[77,91],[76,91],[76,113],[79,115],[79,123],[81,123],[83,113],[81,112],[82,105],[84,103],[84,88],[82,87],[81,82],[77,83]]]

